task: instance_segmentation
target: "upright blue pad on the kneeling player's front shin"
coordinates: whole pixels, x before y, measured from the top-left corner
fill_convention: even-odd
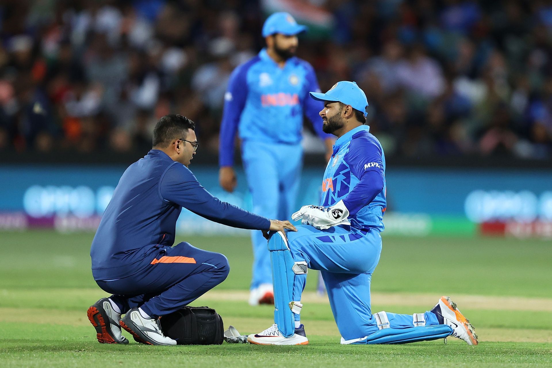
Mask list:
[[[299,314],[302,308],[299,301],[292,299],[295,274],[306,274],[307,264],[294,262],[282,232],[270,233],[268,250],[274,284],[274,322],[285,337],[291,337],[295,333],[293,313]]]

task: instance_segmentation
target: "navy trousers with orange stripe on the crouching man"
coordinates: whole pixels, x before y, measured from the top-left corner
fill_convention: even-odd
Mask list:
[[[163,316],[213,289],[230,271],[224,254],[208,252],[182,242],[162,247],[142,263],[133,275],[111,281],[96,281],[113,294],[112,300],[126,313],[141,307],[150,316]]]

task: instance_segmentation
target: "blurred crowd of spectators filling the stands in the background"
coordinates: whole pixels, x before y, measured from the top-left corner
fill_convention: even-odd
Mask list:
[[[360,85],[386,154],[552,158],[552,1],[309,6],[331,22],[298,56],[322,90]],[[227,81],[265,17],[252,0],[2,1],[0,151],[147,150],[179,113],[216,152]]]

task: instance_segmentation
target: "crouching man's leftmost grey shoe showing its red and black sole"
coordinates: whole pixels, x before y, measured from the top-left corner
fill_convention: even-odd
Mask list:
[[[108,298],[101,298],[88,308],[88,320],[96,329],[98,342],[102,344],[128,344],[119,321],[121,315],[113,310]]]

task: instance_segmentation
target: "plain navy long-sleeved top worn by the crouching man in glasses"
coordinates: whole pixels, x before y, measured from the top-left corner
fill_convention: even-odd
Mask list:
[[[182,207],[228,226],[270,227],[268,218],[220,201],[183,164],[151,150],[125,170],[105,209],[90,250],[94,279],[130,276],[157,248],[172,246]]]

